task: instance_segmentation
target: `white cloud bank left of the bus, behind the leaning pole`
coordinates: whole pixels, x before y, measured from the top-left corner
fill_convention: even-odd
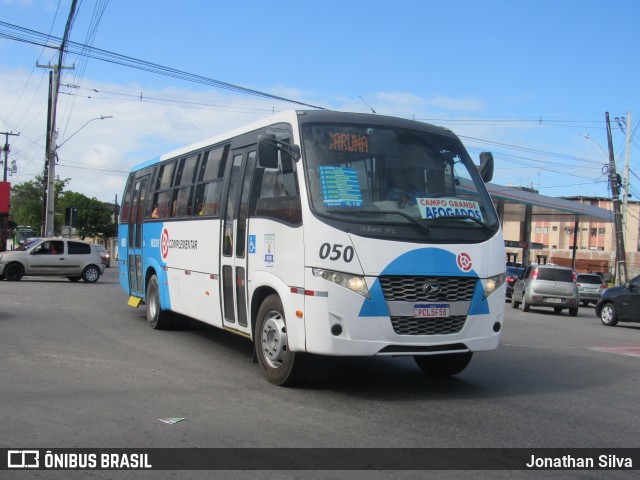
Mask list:
[[[0,67],[0,102],[7,107],[0,129],[21,135],[11,141],[10,160],[18,165],[12,183],[32,180],[44,170],[48,80],[43,77],[48,73]],[[134,165],[270,116],[274,109],[293,108],[214,90],[149,89],[89,79],[84,85],[61,89],[56,175],[70,179],[67,190],[102,201],[121,197]]]

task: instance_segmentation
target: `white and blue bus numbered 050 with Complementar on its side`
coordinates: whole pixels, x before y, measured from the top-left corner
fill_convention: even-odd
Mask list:
[[[299,377],[306,353],[457,374],[498,346],[504,321],[493,158],[481,160],[421,122],[279,113],[132,170],[121,286],[153,328],[188,316],[253,341],[274,384]]]

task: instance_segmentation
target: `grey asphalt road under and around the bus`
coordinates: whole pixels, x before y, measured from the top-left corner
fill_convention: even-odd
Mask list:
[[[115,268],[96,284],[34,277],[0,282],[0,447],[604,449],[640,443],[640,324],[604,327],[593,307],[570,317],[506,304],[500,348],[476,354],[454,378],[429,379],[410,358],[317,359],[313,378],[282,388],[263,379],[247,340],[198,323],[152,330],[144,307],[128,307],[117,282]],[[166,418],[184,420],[159,420]],[[4,473],[17,472],[0,477]],[[47,472],[38,478],[54,473],[69,477]],[[143,474],[118,476],[124,473],[95,471],[91,478]],[[473,478],[467,473],[442,478]],[[557,478],[572,478],[568,473]],[[587,478],[602,478],[593,473]],[[629,472],[610,473],[624,478]],[[379,473],[361,475],[353,478]],[[313,476],[291,476],[303,477]]]

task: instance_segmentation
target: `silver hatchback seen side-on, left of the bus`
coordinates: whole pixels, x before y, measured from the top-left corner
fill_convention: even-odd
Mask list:
[[[97,282],[104,265],[95,245],[66,238],[39,238],[16,250],[0,252],[0,280],[18,281],[23,276],[67,277]]]

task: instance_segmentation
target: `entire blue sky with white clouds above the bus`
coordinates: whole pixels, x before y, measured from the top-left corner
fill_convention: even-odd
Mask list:
[[[24,29],[59,39],[70,7],[0,0],[0,132],[20,134],[8,137],[12,184],[43,173],[42,66],[58,62],[57,50],[21,41],[35,38]],[[622,176],[631,132],[629,194],[638,200],[638,19],[636,0],[79,0],[69,35],[78,47],[63,61],[74,68],[61,74],[56,174],[67,190],[120,201],[134,165],[308,108],[223,83],[448,127],[477,163],[493,153],[495,183],[553,197],[610,196],[609,112]],[[91,48],[82,54],[82,45]],[[120,64],[125,57],[137,68]],[[139,68],[150,64],[174,74]]]

